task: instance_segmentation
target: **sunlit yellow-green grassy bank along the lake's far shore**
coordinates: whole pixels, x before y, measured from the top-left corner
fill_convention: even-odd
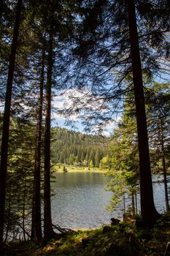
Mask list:
[[[97,167],[80,167],[73,165],[53,165],[52,170],[58,173],[63,173],[64,168],[69,173],[106,173],[107,170],[103,170]]]

